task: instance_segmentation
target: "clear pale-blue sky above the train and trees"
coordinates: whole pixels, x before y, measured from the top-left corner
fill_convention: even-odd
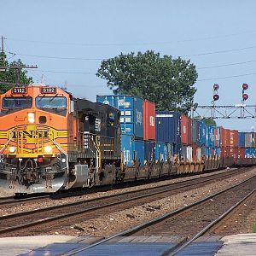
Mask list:
[[[21,59],[34,82],[63,86],[96,101],[111,94],[96,77],[102,59],[152,49],[195,64],[195,102],[256,105],[256,1],[253,0],[0,0],[0,36],[8,61]],[[15,55],[14,55],[15,54]],[[207,114],[200,111],[201,114]],[[254,110],[253,110],[254,113]],[[239,131],[256,130],[255,119],[217,119]]]

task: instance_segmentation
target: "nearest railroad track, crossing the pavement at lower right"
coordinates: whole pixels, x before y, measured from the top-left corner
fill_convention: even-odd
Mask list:
[[[81,252],[86,253],[86,250],[96,247],[106,241],[111,241],[117,236],[157,236],[168,234],[172,236],[183,236],[185,234],[188,237],[188,240],[183,244],[178,244],[176,247],[171,247],[170,250],[167,250],[163,255],[175,255],[177,253],[182,253],[183,250],[197,238],[203,236],[207,232],[211,232],[211,230],[214,230],[216,226],[224,220],[224,218],[227,218],[231,214],[230,212],[234,211],[237,207],[240,207],[241,204],[243,204],[244,201],[247,201],[249,197],[255,196],[255,183],[256,176],[250,177],[244,182],[236,184],[229,189],[224,189],[214,195],[207,196],[206,198],[196,201],[189,206],[182,207],[173,212],[168,212],[159,218],[154,218],[129,230],[124,230],[89,246],[87,245],[71,250],[68,253],[64,253],[62,256],[71,256],[75,253]],[[235,197],[236,200],[234,199]],[[228,201],[227,198],[230,198],[230,201]],[[221,210],[218,211],[218,208],[221,208]],[[212,215],[211,218],[207,215],[207,212],[209,213],[212,211],[214,217]],[[196,222],[191,223],[192,218],[196,218]],[[177,226],[179,226],[178,230]],[[180,234],[180,230],[185,231],[183,234]]]

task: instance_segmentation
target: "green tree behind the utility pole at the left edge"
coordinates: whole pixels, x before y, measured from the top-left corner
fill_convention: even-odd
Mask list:
[[[20,61],[12,61],[10,64],[8,61],[6,61],[6,55],[5,53],[0,53],[0,67],[22,67],[24,66],[24,63]],[[5,70],[0,70],[0,94],[3,94],[7,90],[9,90],[12,85],[16,83],[16,70],[14,68],[7,68]],[[26,76],[27,71],[26,70],[18,70],[19,72],[19,82],[20,84],[31,84],[33,82],[32,78],[28,78]],[[6,83],[6,84],[4,84]],[[10,83],[10,84],[9,84]]]

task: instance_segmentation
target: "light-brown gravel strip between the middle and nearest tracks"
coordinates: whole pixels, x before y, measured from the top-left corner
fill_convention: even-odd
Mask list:
[[[172,212],[179,207],[184,207],[192,202],[199,201],[207,195],[227,189],[232,185],[241,183],[248,177],[253,177],[256,169],[235,177],[226,178],[220,182],[201,186],[200,189],[191,189],[187,192],[172,195],[164,199],[152,201],[139,207],[132,207],[124,211],[117,211],[107,214],[101,218],[90,221],[74,222],[73,226],[62,227],[61,229],[52,228],[50,234],[69,235],[69,236],[110,236],[113,233],[125,230],[137,224],[141,224],[149,219],[156,218],[166,212]],[[227,199],[228,200],[228,199]]]

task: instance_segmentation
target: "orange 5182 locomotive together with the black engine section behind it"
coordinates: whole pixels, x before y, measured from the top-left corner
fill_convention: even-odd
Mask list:
[[[119,179],[117,109],[40,84],[7,91],[0,109],[1,188],[55,192]]]

